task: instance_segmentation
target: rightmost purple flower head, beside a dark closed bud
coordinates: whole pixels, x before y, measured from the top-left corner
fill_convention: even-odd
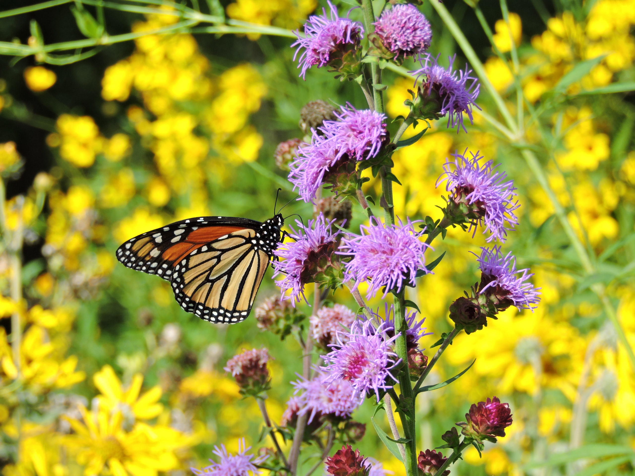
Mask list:
[[[492,294],[503,306],[506,303],[519,310],[533,311],[540,302],[540,288],[534,288],[531,282],[525,282],[533,274],[528,269],[516,270],[516,258],[511,253],[503,256],[500,246],[481,250],[481,256],[477,256],[482,272],[479,293]]]

